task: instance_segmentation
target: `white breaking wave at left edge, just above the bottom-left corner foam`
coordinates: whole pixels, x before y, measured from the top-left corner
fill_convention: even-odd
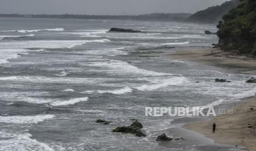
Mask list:
[[[55,115],[35,115],[35,116],[12,116],[12,117],[0,117],[0,123],[14,123],[14,124],[31,124],[39,123],[46,119],[52,119]]]

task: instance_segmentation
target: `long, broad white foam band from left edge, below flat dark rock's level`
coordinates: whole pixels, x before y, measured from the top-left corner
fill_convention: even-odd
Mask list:
[[[97,40],[27,40],[21,42],[3,42],[0,43],[0,49],[20,49],[20,48],[73,48],[76,45],[86,43],[106,43],[108,39]]]

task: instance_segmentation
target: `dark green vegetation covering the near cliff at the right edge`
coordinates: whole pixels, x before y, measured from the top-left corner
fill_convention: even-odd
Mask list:
[[[256,1],[241,0],[241,4],[222,19],[217,25],[221,49],[256,56]]]

